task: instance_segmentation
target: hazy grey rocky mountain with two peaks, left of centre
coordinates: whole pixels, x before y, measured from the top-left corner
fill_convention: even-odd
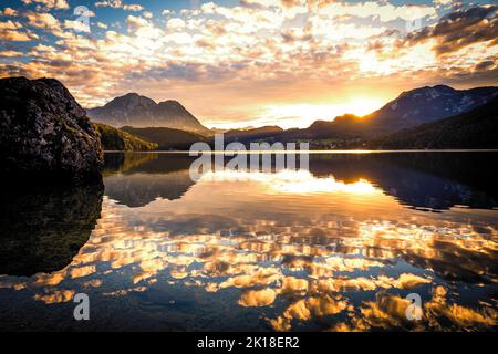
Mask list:
[[[209,129],[176,101],[156,103],[136,93],[116,97],[103,107],[87,110],[89,116],[115,127],[168,127],[209,135]]]

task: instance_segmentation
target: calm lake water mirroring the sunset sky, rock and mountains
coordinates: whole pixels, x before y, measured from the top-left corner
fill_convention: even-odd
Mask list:
[[[0,330],[495,331],[497,160],[320,154],[195,183],[186,155],[116,153],[103,185],[3,185]]]

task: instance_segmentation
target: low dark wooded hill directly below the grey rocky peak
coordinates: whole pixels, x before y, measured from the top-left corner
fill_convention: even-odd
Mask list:
[[[159,149],[189,149],[191,144],[207,142],[200,134],[165,127],[135,128],[124,126],[122,131],[133,134],[144,140],[155,143]]]

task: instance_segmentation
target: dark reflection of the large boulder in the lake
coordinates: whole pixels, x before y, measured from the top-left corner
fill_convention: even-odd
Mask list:
[[[0,274],[32,275],[65,267],[101,216],[102,181],[73,187],[3,186]]]

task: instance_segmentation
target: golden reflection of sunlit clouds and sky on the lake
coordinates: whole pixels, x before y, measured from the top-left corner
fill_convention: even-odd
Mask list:
[[[229,313],[249,311],[261,330],[496,326],[496,210],[413,210],[363,177],[241,177],[206,175],[180,197],[139,207],[107,195],[90,240],[68,267],[30,278],[3,275],[0,287],[29,291],[46,304],[69,302],[81,291],[95,301],[135,293],[157,304],[166,301],[162,291],[181,289],[197,301],[211,299],[218,312],[210,315],[228,322],[235,321]],[[120,183],[127,176],[106,178]],[[141,175],[133,178],[126,188],[141,185]],[[418,322],[405,316],[411,292],[423,298]],[[180,290],[167,294],[181,304]],[[196,319],[196,309],[194,301],[181,311]]]

